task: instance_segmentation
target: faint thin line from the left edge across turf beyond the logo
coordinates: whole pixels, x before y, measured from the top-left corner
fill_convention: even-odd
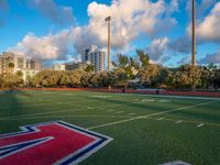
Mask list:
[[[111,105],[111,106],[100,106],[100,107],[95,107],[95,108],[102,108],[102,107],[116,107],[116,106],[121,106],[121,105]],[[0,120],[6,120],[6,119],[14,119],[14,118],[22,118],[22,117],[32,117],[32,116],[42,116],[42,114],[53,114],[53,113],[63,113],[63,112],[75,112],[75,111],[80,111],[80,110],[86,110],[86,108],[78,108],[78,109],[68,109],[68,110],[57,110],[57,111],[52,111],[52,112],[42,112],[42,113],[30,113],[30,114],[21,114],[21,116],[13,116],[13,117],[6,117],[6,118],[0,118]]]

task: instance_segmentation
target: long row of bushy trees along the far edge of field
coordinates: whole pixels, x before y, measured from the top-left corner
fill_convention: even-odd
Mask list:
[[[94,73],[92,66],[75,70],[42,70],[34,77],[22,80],[22,75],[7,73],[0,75],[1,87],[94,87],[107,88],[220,88],[220,69],[208,66],[183,65],[167,68],[151,64],[150,56],[143,51],[136,55],[118,55],[118,62],[112,62],[110,73]]]

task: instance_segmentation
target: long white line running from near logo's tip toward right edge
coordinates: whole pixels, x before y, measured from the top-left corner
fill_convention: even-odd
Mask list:
[[[114,125],[114,124],[119,124],[119,123],[125,123],[125,122],[138,120],[138,119],[144,119],[144,118],[148,118],[148,117],[160,116],[160,114],[169,113],[169,112],[174,112],[174,111],[180,111],[180,110],[195,108],[195,107],[199,107],[199,106],[210,105],[210,103],[213,103],[213,102],[218,102],[218,101],[209,101],[209,102],[205,102],[205,103],[198,103],[198,105],[195,105],[195,106],[187,106],[187,107],[176,108],[176,109],[172,109],[172,110],[167,110],[167,111],[163,111],[163,112],[151,113],[151,114],[147,114],[147,116],[139,116],[139,117],[131,118],[131,119],[119,120],[119,121],[116,121],[116,122],[110,122],[110,123],[106,123],[106,124],[89,127],[87,129],[92,130],[92,129],[97,129],[97,128],[110,127],[110,125]]]

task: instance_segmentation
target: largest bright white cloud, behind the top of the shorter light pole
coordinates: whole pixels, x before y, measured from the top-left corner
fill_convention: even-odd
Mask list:
[[[176,20],[170,13],[177,10],[176,0],[172,6],[164,0],[151,2],[148,0],[114,0],[112,4],[100,4],[92,2],[88,6],[89,24],[80,28],[81,33],[76,42],[79,51],[89,44],[101,47],[107,45],[107,23],[105,18],[112,16],[111,44],[114,50],[127,48],[130,42],[140,34],[150,36],[156,34],[158,29],[169,24],[174,25]],[[170,10],[170,8],[174,8]],[[86,38],[86,40],[85,40]]]

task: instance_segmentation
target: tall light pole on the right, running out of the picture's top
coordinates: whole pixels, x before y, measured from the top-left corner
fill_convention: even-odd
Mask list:
[[[193,0],[193,22],[191,22],[191,65],[196,66],[196,0]]]

